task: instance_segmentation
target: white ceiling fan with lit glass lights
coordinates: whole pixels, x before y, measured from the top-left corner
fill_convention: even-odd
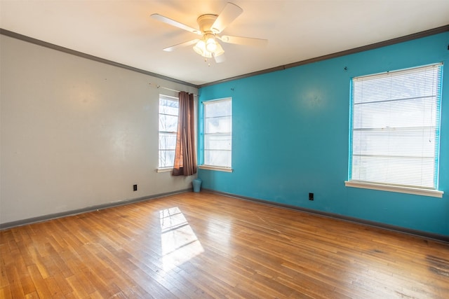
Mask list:
[[[225,50],[223,50],[217,40],[220,40],[223,43],[235,43],[246,46],[264,46],[268,42],[266,39],[219,35],[227,27],[227,25],[234,21],[241,13],[243,13],[243,9],[228,2],[225,8],[221,11],[220,15],[200,15],[196,20],[196,22],[198,22],[199,29],[189,27],[180,22],[164,17],[163,15],[159,15],[158,13],[152,14],[151,17],[168,25],[172,25],[201,36],[198,39],[193,39],[192,41],[186,41],[185,43],[179,43],[175,46],[164,48],[164,51],[171,52],[177,48],[195,45],[194,50],[196,53],[206,59],[214,57],[215,62],[218,63],[225,61],[225,55],[223,55]]]

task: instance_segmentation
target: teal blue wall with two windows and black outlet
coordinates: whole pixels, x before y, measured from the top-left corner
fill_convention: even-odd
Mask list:
[[[449,235],[448,45],[445,32],[201,88],[200,102],[232,97],[233,113],[234,172],[200,169],[203,188]],[[345,187],[350,78],[435,62],[444,63],[443,198]],[[199,151],[201,159],[201,142]]]

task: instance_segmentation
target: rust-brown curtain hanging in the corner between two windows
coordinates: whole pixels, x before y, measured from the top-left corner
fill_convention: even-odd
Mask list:
[[[196,174],[194,95],[180,92],[173,176]]]

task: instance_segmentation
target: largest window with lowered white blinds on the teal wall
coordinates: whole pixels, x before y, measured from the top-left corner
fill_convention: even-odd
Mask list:
[[[347,186],[442,197],[441,77],[433,64],[352,79]]]

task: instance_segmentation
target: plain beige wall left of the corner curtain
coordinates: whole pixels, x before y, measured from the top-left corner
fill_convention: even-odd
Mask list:
[[[156,173],[159,92],[170,95],[156,85],[195,88],[8,36],[0,46],[0,223],[191,188]]]

